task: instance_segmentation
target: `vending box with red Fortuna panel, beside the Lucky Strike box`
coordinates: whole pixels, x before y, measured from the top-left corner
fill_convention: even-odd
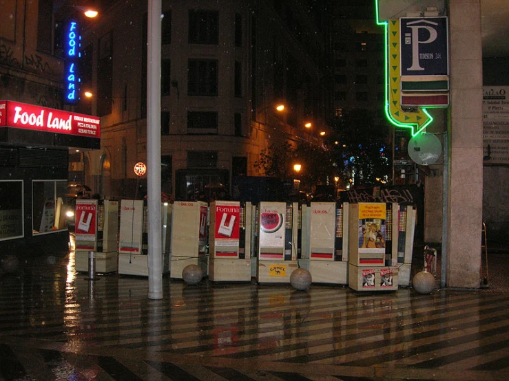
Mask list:
[[[250,230],[251,203],[240,206],[240,202],[216,201],[210,204],[211,281],[251,281]]]

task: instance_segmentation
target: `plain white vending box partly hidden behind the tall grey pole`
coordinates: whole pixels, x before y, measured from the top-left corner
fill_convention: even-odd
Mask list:
[[[118,246],[118,274],[149,275],[148,215],[143,200],[121,200],[120,235]],[[161,204],[163,274],[169,272],[169,232],[165,224],[172,215],[172,205]]]

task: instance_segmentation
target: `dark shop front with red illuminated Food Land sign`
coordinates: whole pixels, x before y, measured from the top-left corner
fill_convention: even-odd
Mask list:
[[[68,250],[68,149],[98,149],[100,120],[0,100],[0,248]]]

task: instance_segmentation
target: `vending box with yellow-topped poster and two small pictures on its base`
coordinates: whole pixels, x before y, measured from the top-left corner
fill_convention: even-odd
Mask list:
[[[356,291],[390,291],[398,287],[395,203],[349,205],[349,287]]]

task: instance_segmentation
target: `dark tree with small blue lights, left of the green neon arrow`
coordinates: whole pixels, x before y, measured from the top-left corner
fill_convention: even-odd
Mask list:
[[[392,154],[388,126],[375,124],[366,109],[353,109],[333,121],[334,162],[343,178],[355,185],[380,184],[392,177]],[[337,144],[335,144],[337,142]]]

